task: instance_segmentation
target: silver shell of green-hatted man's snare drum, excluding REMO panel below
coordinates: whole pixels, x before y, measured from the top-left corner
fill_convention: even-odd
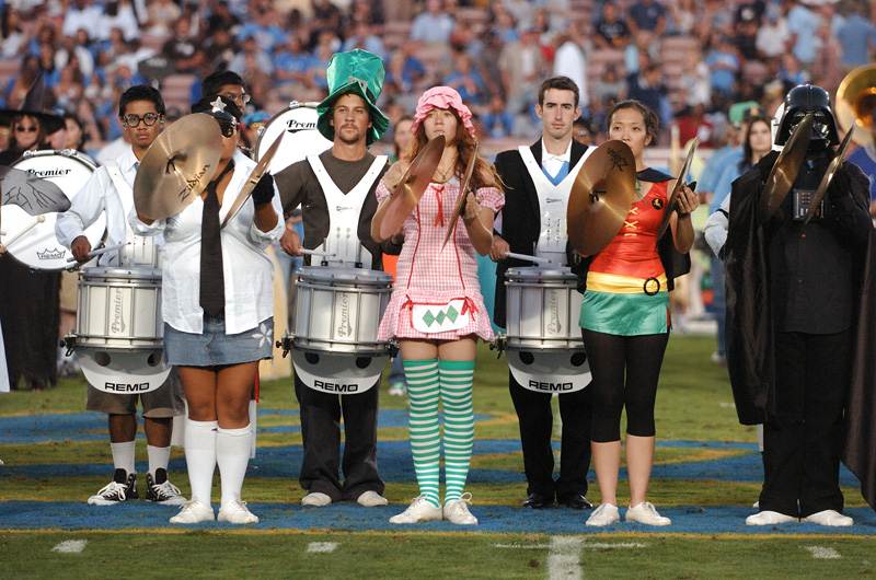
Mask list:
[[[392,276],[358,268],[303,267],[296,272],[292,348],[307,352],[377,357],[380,318],[392,293]]]

